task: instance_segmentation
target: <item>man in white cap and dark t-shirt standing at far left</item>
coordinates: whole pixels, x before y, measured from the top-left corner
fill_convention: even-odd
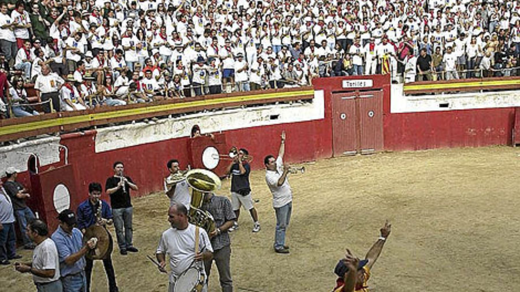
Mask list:
[[[16,181],[18,177],[17,169],[11,166],[7,169],[5,174],[7,175],[7,181],[4,184],[4,189],[11,198],[16,221],[18,221],[18,225],[20,226],[23,246],[25,249],[34,249],[36,245],[28,237],[27,232],[25,232],[27,224],[34,219],[34,213],[31,208],[25,204],[25,200],[29,199],[31,195],[22,184]]]

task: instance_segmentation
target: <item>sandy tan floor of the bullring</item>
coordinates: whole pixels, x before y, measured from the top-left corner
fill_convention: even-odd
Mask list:
[[[288,149],[290,151],[290,149]],[[251,175],[262,224],[249,214],[231,235],[235,291],[330,291],[345,247],[364,257],[385,219],[390,235],[369,281],[373,291],[518,291],[520,149],[512,147],[389,152],[306,163],[292,175],[291,254],[272,251],[275,217],[264,171]],[[229,181],[219,194],[228,195]],[[104,198],[106,199],[106,198]],[[165,291],[153,255],[168,228],[162,193],[134,199],[137,254],[113,253],[121,291]],[[113,230],[112,230],[113,233]],[[30,252],[20,251],[25,259]],[[216,267],[209,291],[219,291]],[[92,291],[107,291],[96,262]],[[0,268],[0,290],[35,290],[30,275]]]

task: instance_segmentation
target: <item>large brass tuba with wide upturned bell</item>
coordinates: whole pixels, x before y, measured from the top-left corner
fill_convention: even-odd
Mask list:
[[[200,226],[207,233],[215,230],[215,220],[210,212],[201,210],[204,193],[220,189],[220,178],[213,172],[205,169],[193,169],[186,173],[186,182],[191,187],[190,211],[188,221]]]

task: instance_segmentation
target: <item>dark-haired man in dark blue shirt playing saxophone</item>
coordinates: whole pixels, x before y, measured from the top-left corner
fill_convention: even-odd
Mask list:
[[[86,229],[94,224],[106,226],[112,224],[112,211],[107,202],[100,200],[101,197],[101,184],[90,183],[88,185],[88,200],[84,201],[77,207],[77,228],[85,233]],[[99,208],[101,208],[101,216],[96,216]],[[110,236],[110,233],[109,233]],[[110,238],[112,240],[112,238]],[[92,275],[92,267],[94,265],[93,260],[86,258],[85,276],[87,278],[87,292],[90,291],[90,275]],[[112,265],[112,257],[108,255],[103,259],[103,266],[105,266],[105,272],[108,277],[108,285],[110,292],[119,291],[118,286],[115,283],[114,267]]]

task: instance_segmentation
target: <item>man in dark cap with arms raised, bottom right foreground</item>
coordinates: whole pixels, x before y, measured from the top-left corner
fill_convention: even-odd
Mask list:
[[[370,278],[370,270],[381,254],[383,245],[388,235],[390,235],[391,227],[392,225],[386,220],[385,226],[380,229],[381,236],[372,245],[363,260],[353,256],[347,248],[345,258],[341,259],[334,269],[334,273],[338,278],[333,292],[369,291],[367,282]]]

